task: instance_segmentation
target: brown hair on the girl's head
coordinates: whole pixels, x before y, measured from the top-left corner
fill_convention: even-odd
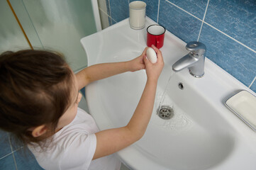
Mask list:
[[[70,104],[72,70],[55,52],[21,50],[0,55],[0,128],[28,144],[30,128],[55,130]]]

